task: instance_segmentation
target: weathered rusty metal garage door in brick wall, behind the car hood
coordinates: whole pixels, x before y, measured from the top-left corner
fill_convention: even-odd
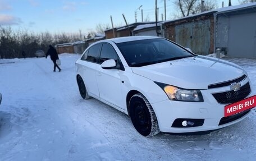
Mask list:
[[[207,55],[210,50],[210,20],[190,22],[175,27],[176,43],[190,48],[194,53]]]

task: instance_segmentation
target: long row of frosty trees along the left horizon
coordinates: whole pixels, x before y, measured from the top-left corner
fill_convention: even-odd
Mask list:
[[[26,57],[35,57],[35,51],[47,52],[49,44],[56,45],[84,40],[81,31],[77,34],[30,33],[28,30],[13,30],[10,26],[0,26],[0,58],[21,58],[24,50]]]

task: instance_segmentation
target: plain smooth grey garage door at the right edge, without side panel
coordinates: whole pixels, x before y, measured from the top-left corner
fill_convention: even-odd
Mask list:
[[[256,58],[256,13],[230,16],[227,56]]]

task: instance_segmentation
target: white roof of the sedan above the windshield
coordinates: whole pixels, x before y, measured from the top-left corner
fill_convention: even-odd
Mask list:
[[[157,36],[125,36],[120,38],[112,38],[107,39],[114,43],[124,43],[124,42],[131,42],[136,40],[147,40],[147,39],[159,39]]]

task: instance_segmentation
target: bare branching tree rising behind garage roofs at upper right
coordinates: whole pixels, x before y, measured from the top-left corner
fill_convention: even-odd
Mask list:
[[[204,0],[203,2],[203,11],[210,11],[218,7],[216,0]],[[175,17],[185,17],[202,11],[202,1],[200,0],[175,0],[174,4],[179,8],[179,13],[176,13]]]

